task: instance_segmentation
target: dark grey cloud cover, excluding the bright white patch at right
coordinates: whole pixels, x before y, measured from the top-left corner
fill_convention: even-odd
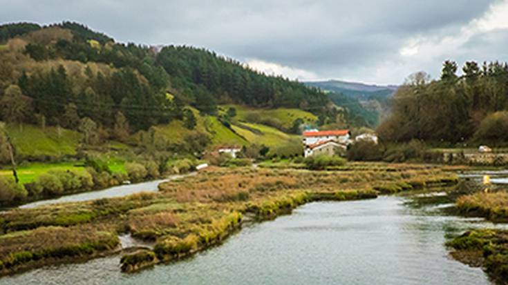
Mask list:
[[[366,66],[399,61],[409,38],[456,30],[491,3],[496,1],[0,0],[0,21],[73,20],[119,41],[200,46],[321,77],[356,74],[362,80]],[[379,83],[399,83],[413,71]]]

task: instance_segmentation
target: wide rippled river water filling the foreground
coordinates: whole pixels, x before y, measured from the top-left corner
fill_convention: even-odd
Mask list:
[[[3,277],[0,284],[489,284],[480,268],[451,259],[444,242],[467,228],[496,226],[446,215],[447,204],[411,201],[305,204],[245,226],[221,246],[140,273],[121,273],[120,256],[112,256]]]

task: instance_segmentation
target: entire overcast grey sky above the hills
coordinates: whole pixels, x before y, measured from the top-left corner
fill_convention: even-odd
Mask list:
[[[508,60],[508,0],[0,0],[0,22],[79,21],[300,80],[399,84],[442,61]]]

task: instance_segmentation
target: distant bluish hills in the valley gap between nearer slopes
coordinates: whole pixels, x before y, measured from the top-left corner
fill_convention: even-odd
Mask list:
[[[335,104],[347,108],[357,121],[370,127],[379,124],[388,110],[388,99],[399,88],[339,80],[308,81],[305,85],[327,92]]]

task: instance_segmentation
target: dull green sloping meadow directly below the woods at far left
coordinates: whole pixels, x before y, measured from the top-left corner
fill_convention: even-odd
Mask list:
[[[7,126],[7,132],[19,155],[28,157],[62,157],[75,155],[81,135],[73,130],[46,127],[44,130],[32,125]]]

